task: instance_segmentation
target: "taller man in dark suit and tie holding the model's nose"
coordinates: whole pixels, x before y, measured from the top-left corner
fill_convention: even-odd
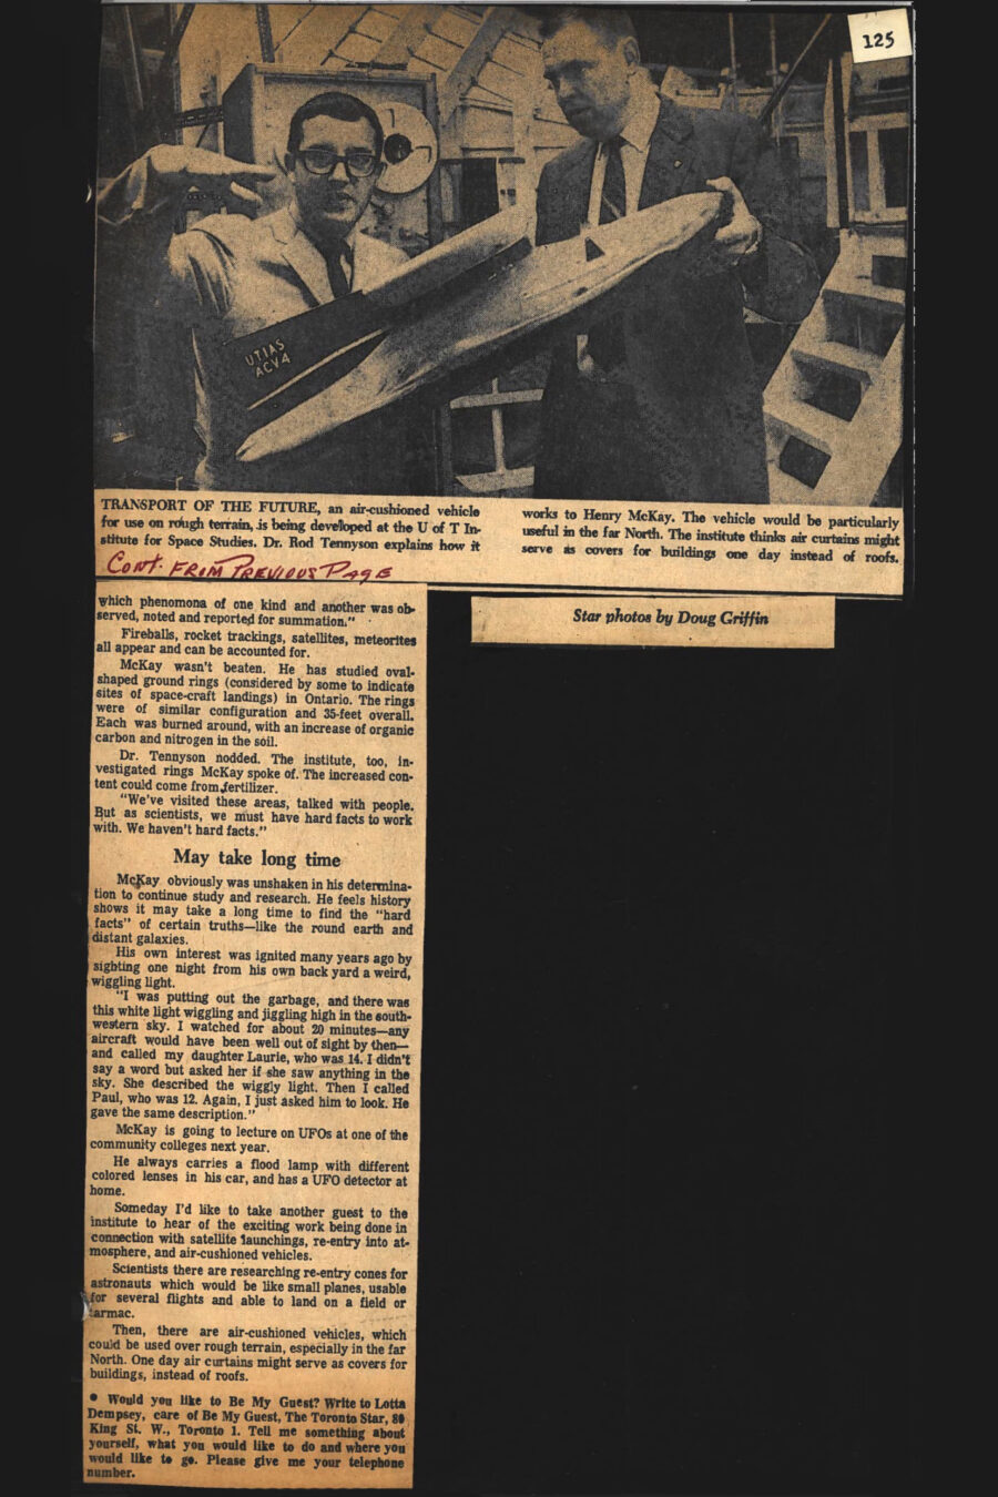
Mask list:
[[[542,172],[539,244],[681,193],[723,190],[732,211],[694,259],[666,263],[637,302],[558,344],[534,494],[766,503],[744,307],[799,322],[818,289],[811,257],[787,238],[774,153],[745,115],[660,97],[625,10],[552,7],[542,31],[545,78],[584,139]]]

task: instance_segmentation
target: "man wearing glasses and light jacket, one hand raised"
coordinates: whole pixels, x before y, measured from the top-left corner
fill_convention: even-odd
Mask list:
[[[405,263],[402,250],[358,229],[383,171],[383,144],[370,105],[323,93],[292,117],[283,163],[292,201],[275,213],[248,217],[263,208],[275,171],[183,145],[154,147],[102,193],[103,284],[130,295],[138,311],[192,329],[202,488],[405,493],[404,434],[388,440],[374,425],[346,428],[320,458],[284,458],[244,478],[235,463],[241,407],[224,362],[232,338],[368,290]],[[190,189],[221,198],[229,211],[175,234]],[[280,359],[280,350],[269,356]]]

